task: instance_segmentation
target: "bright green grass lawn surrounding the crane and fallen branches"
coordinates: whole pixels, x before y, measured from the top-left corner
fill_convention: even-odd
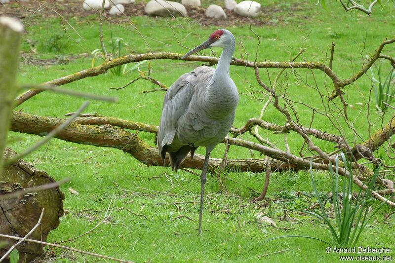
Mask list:
[[[218,2],[217,2],[218,3]],[[204,3],[203,3],[204,5]],[[258,61],[289,61],[299,50],[307,47],[303,57],[297,61],[327,61],[326,55],[330,53],[331,42],[336,42],[333,69],[341,78],[353,75],[362,65],[365,55],[372,54],[384,38],[392,38],[395,33],[395,18],[393,9],[380,11],[375,8],[372,16],[368,17],[362,13],[345,13],[340,4],[326,3],[326,11],[312,2],[288,1],[278,4],[277,1],[265,2],[265,6],[276,8],[276,12],[264,13],[264,19],[272,22],[263,27],[254,27],[252,30],[260,36]],[[265,9],[264,9],[265,10]],[[126,53],[145,53],[150,48],[155,52],[179,52],[187,50],[178,45],[172,30],[166,19],[152,19],[146,16],[130,17],[130,20],[138,27],[140,32],[148,37],[158,39],[165,44],[147,39],[149,47],[141,37],[129,30],[116,25],[105,23],[103,26],[104,41],[110,47],[110,31],[113,37],[124,39],[124,50]],[[40,66],[32,64],[21,64],[19,72],[20,83],[41,83],[64,75],[90,67],[92,57],[90,52],[100,48],[98,37],[98,23],[95,15],[84,18],[70,18],[70,23],[76,28],[81,39],[68,27],[70,36],[77,43],[68,38],[59,40],[56,36],[62,35],[64,29],[58,18],[44,19],[40,14],[26,17],[24,22],[26,34],[22,49],[31,52],[32,48],[37,54],[28,54],[39,58],[53,59],[81,55],[77,59],[70,60],[67,64]],[[174,33],[179,41],[188,47],[194,47],[202,42],[217,27],[201,27],[195,21],[187,21],[184,18],[169,20]],[[123,24],[131,29],[130,24]],[[183,28],[181,28],[181,26]],[[246,52],[245,58],[255,59],[258,40],[250,30],[249,25],[227,28],[235,35],[237,41],[242,40]],[[191,33],[191,34],[190,34]],[[35,40],[34,47],[27,40]],[[63,41],[58,43],[57,41]],[[214,50],[219,55],[219,50]],[[209,52],[207,52],[209,54]],[[394,56],[393,46],[387,46],[383,54]],[[240,57],[238,50],[236,57]],[[180,61],[181,62],[181,61]],[[171,85],[178,76],[196,68],[199,63],[177,64],[178,61],[161,60],[152,62],[151,76],[160,82]],[[171,64],[171,65],[168,65]],[[144,64],[146,66],[146,64]],[[142,70],[147,70],[142,65]],[[383,61],[382,68],[389,68],[387,61]],[[269,83],[268,75],[273,81],[278,73],[276,69],[261,70],[261,77],[265,83]],[[308,70],[298,70],[299,78],[315,85],[314,79]],[[324,94],[330,94],[332,87],[330,80],[315,71],[317,86]],[[118,87],[126,84],[138,76],[136,71],[127,75],[116,76],[110,73],[89,77],[64,86],[83,92],[101,95],[118,96],[118,103],[107,103],[93,101],[85,110],[85,113],[98,112],[107,116],[115,116],[149,124],[159,123],[163,93],[154,92],[139,95],[138,92],[154,88],[144,80],[138,80],[132,86],[121,90],[109,90],[109,87]],[[265,93],[254,80],[253,70],[241,67],[231,67],[231,76],[237,84],[240,93],[240,102],[234,126],[240,127],[250,117],[257,117],[265,102]],[[303,84],[287,70],[279,80],[278,89],[284,91],[285,85],[288,96],[298,102],[314,105],[320,110],[323,105],[316,90]],[[355,127],[362,136],[368,138],[368,126],[366,114],[358,115],[359,108],[366,110],[366,105],[357,106],[356,103],[365,104],[368,100],[371,80],[368,76],[362,76],[355,84],[347,86],[345,92],[349,104],[354,107],[348,108],[351,120],[356,118]],[[374,94],[372,93],[372,98]],[[62,117],[65,113],[76,111],[83,103],[83,99],[60,95],[52,92],[42,92],[26,103],[18,107],[26,113]],[[340,106],[338,100],[335,103]],[[302,105],[295,106],[300,122],[309,126],[311,121],[311,110]],[[389,110],[384,116],[387,121],[393,113]],[[377,122],[381,115],[375,113],[374,103],[370,104],[369,120],[371,131],[378,129],[381,122]],[[285,123],[285,118],[273,107],[269,107],[264,115],[264,120],[279,125]],[[344,120],[338,119],[339,125],[344,125]],[[330,122],[324,117],[316,114],[313,127],[328,133],[337,133],[331,127]],[[345,128],[346,129],[346,128]],[[283,135],[274,135],[268,131],[261,131],[264,137],[275,143],[279,148],[284,148]],[[139,133],[146,142],[154,145],[154,135]],[[354,133],[346,130],[346,136],[354,141]],[[11,132],[10,139],[19,138],[18,142],[10,143],[17,152],[33,145],[40,137]],[[251,139],[249,134],[243,135],[244,139]],[[288,135],[291,151],[299,152],[302,139],[295,133]],[[323,150],[332,151],[333,145],[314,140]],[[360,140],[357,139],[357,143]],[[222,157],[224,146],[219,145],[212,152],[213,157]],[[198,153],[203,153],[199,149]],[[394,164],[386,158],[382,151],[379,157],[387,164]],[[258,152],[250,152],[246,149],[231,147],[230,158],[255,157],[260,158]],[[270,212],[281,209],[277,201],[288,200],[311,205],[316,202],[310,176],[307,172],[283,172],[273,173],[268,190],[267,202],[262,207],[257,207],[248,198],[256,197],[258,194],[250,188],[260,191],[263,187],[264,175],[255,173],[239,173],[229,171],[227,177],[233,181],[227,181],[228,191],[240,197],[223,195],[215,177],[208,176],[206,200],[213,204],[206,204],[203,214],[203,234],[197,236],[198,204],[158,205],[157,203],[173,203],[182,201],[198,202],[199,179],[198,177],[179,171],[173,175],[169,168],[147,167],[139,163],[128,154],[120,150],[96,148],[74,143],[68,143],[53,139],[33,154],[26,157],[39,169],[43,169],[56,180],[70,177],[72,180],[61,186],[66,195],[64,208],[70,211],[68,215],[61,218],[61,224],[48,236],[49,242],[67,240],[85,233],[98,224],[105,214],[112,197],[116,198],[114,211],[111,218],[100,225],[96,230],[102,230],[92,234],[84,235],[79,239],[65,243],[65,245],[103,254],[120,259],[129,259],[136,262],[337,262],[338,254],[326,253],[326,244],[314,240],[303,240],[300,238],[289,238],[273,240],[262,244],[248,252],[264,240],[280,235],[310,235],[328,240],[327,226],[308,215],[300,215],[297,212],[288,212],[285,220],[282,215],[273,217],[278,227],[291,229],[276,229],[270,226],[262,226],[257,223],[255,214],[258,212]],[[198,172],[198,171],[197,171]],[[166,173],[168,178],[154,178]],[[331,190],[331,178],[329,173],[316,172],[315,183],[319,192]],[[236,183],[237,182],[237,183]],[[172,185],[173,184],[173,185]],[[136,188],[138,187],[138,188]],[[71,195],[68,188],[73,188],[79,195]],[[152,189],[160,192],[169,192],[174,195],[152,192],[141,188]],[[145,194],[124,191],[132,190]],[[356,188],[355,188],[356,190]],[[301,192],[301,194],[297,194]],[[148,194],[148,195],[147,195]],[[376,207],[379,202],[376,202]],[[118,208],[125,207],[134,213],[144,214],[138,217]],[[96,210],[96,211],[82,211]],[[103,211],[104,210],[104,211]],[[209,210],[230,210],[229,213],[210,212]],[[393,230],[391,225],[382,223],[384,213],[389,208],[385,207],[365,227],[358,245],[363,247],[389,247],[391,255],[395,256],[393,245]],[[187,218],[173,220],[179,215]],[[389,219],[393,222],[393,219]],[[287,251],[256,258],[264,254],[289,249]],[[63,257],[69,257],[73,262],[98,262],[99,259],[82,256],[70,251],[51,249],[55,252],[54,261],[61,262]],[[50,254],[50,253],[48,253]],[[352,256],[352,255],[350,255]],[[105,262],[102,260],[102,262]]]

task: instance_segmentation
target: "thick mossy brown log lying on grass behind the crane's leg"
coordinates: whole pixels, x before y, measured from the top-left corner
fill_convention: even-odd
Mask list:
[[[100,119],[100,117],[99,117]],[[22,133],[36,134],[45,136],[55,127],[63,123],[65,119],[54,117],[37,116],[22,112],[13,112],[11,130]],[[85,125],[81,125],[83,123]],[[138,161],[150,166],[168,166],[163,165],[158,149],[148,145],[141,140],[137,135],[132,134],[123,129],[114,127],[112,125],[94,126],[88,123],[97,124],[96,118],[77,118],[64,130],[60,131],[55,137],[61,140],[94,145],[98,147],[111,147],[130,153]],[[121,126],[129,129],[147,130],[149,132],[156,132],[156,126],[144,124],[141,127],[138,122],[125,121],[117,118],[106,118],[105,123]],[[181,167],[201,169],[203,166],[204,155],[195,154],[194,159],[187,157],[182,163]],[[221,158],[210,158],[209,166],[211,169],[221,165]],[[230,169],[235,169],[240,172],[262,172],[265,170],[264,159],[228,159],[226,166]],[[273,161],[273,171],[292,170],[297,171],[303,169],[288,162]]]

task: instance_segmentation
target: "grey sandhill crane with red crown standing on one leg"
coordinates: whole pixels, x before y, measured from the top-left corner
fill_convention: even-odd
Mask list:
[[[180,76],[170,86],[164,96],[158,131],[158,150],[163,164],[168,152],[171,168],[175,172],[189,152],[193,158],[197,147],[206,148],[200,175],[199,234],[210,152],[227,136],[238,103],[237,88],[229,76],[235,51],[235,38],[231,32],[225,29],[214,31],[205,42],[182,58],[211,47],[223,48],[217,69],[198,67]]]

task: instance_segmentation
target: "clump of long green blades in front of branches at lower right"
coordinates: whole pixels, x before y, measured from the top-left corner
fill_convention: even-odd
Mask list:
[[[332,163],[329,163],[329,173],[331,176],[331,188],[332,188],[332,200],[333,200],[333,207],[335,210],[335,222],[333,222],[332,219],[329,219],[329,216],[325,210],[325,205],[323,204],[321,198],[320,198],[320,193],[318,192],[316,188],[316,184],[314,182],[314,177],[313,177],[313,160],[310,160],[310,176],[314,188],[314,192],[317,198],[317,202],[319,204],[319,207],[321,208],[321,211],[316,211],[315,209],[312,209],[306,205],[303,204],[297,204],[297,203],[291,203],[291,202],[284,202],[287,204],[292,204],[293,206],[298,206],[300,209],[297,208],[291,208],[291,209],[280,209],[276,210],[270,213],[267,213],[267,216],[270,214],[274,214],[277,212],[285,211],[285,210],[293,210],[293,211],[299,211],[303,212],[312,216],[315,216],[319,219],[322,219],[325,224],[328,226],[329,231],[333,237],[332,243],[330,244],[329,242],[316,238],[316,237],[311,237],[311,236],[302,236],[302,235],[286,235],[286,236],[279,236],[279,237],[274,237],[268,240],[265,240],[255,247],[253,247],[251,250],[255,249],[257,246],[266,243],[268,241],[278,239],[278,238],[284,238],[284,237],[304,237],[304,238],[310,238],[310,239],[315,239],[322,241],[324,243],[327,243],[329,245],[335,246],[335,247],[348,247],[353,245],[356,245],[360,234],[362,233],[363,229],[366,227],[368,222],[372,219],[372,217],[386,204],[385,202],[382,202],[376,210],[369,215],[369,207],[371,203],[375,200],[372,198],[372,190],[375,185],[376,179],[379,175],[379,169],[376,169],[373,176],[371,176],[368,180],[365,181],[369,182],[367,184],[366,190],[362,190],[362,188],[359,189],[358,194],[356,195],[355,200],[353,201],[353,169],[352,169],[352,161],[348,161],[344,153],[341,153],[341,158],[344,163],[344,169],[349,173],[349,177],[347,177],[344,182],[343,182],[343,187],[342,187],[342,200],[340,200],[340,192],[339,192],[339,155],[336,155],[335,158],[335,171],[333,171],[333,166]],[[365,185],[364,183],[364,185]]]

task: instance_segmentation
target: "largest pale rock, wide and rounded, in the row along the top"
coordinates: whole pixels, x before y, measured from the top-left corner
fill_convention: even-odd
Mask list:
[[[151,0],[145,5],[145,12],[153,16],[187,15],[185,6],[178,2],[166,0]]]

